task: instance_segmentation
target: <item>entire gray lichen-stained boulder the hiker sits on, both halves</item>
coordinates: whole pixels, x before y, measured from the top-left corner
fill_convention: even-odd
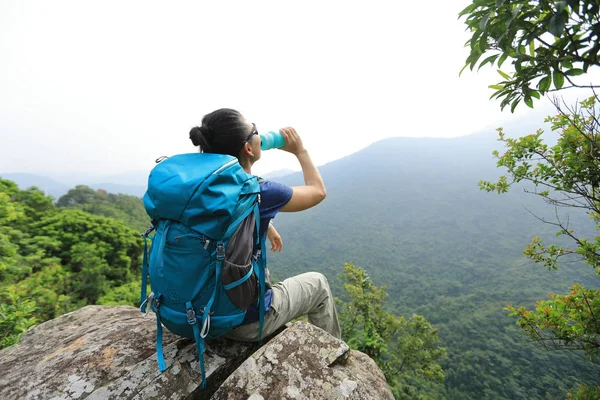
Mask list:
[[[207,341],[205,390],[194,341],[164,330],[160,373],[155,333],[153,315],[127,306],[88,306],[47,321],[0,350],[0,399],[392,398],[369,357],[308,323],[258,351]]]

